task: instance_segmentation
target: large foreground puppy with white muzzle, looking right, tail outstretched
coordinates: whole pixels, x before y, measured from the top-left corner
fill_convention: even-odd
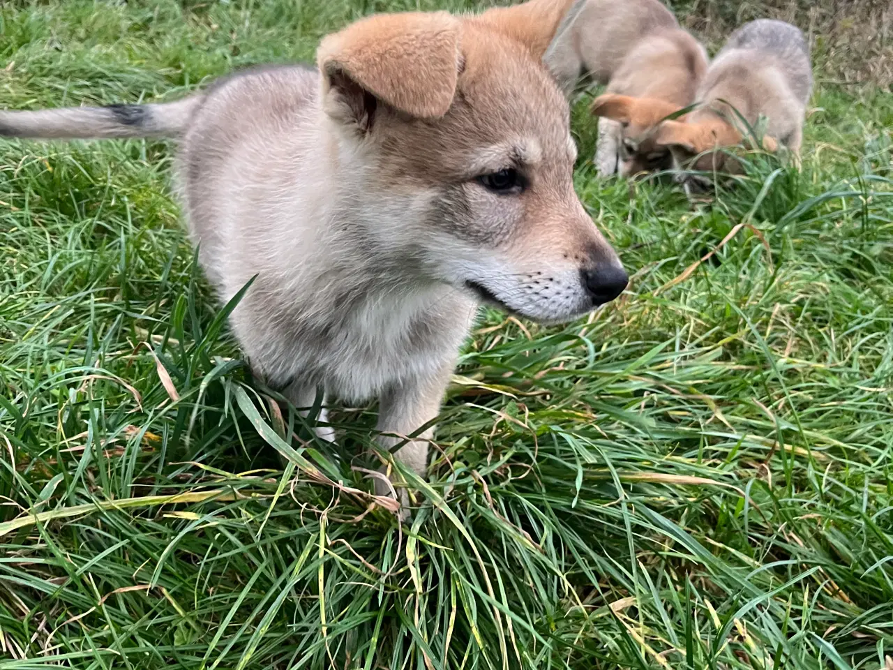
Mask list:
[[[179,138],[191,237],[256,373],[309,407],[380,399],[379,440],[423,474],[480,302],[540,322],[627,285],[573,191],[569,109],[538,21],[380,14],[324,38],[319,70],[269,67],[160,105],[0,113],[0,134]],[[324,417],[323,417],[324,418]],[[381,494],[385,482],[376,482]],[[404,497],[405,499],[405,497]]]

